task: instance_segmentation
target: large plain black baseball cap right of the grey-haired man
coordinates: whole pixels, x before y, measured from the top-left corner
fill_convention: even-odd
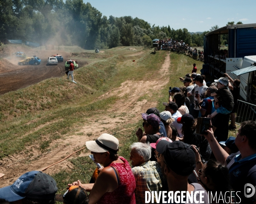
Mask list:
[[[195,169],[195,153],[189,144],[174,141],[163,148],[164,159],[172,171],[181,176],[189,176],[193,172]]]

